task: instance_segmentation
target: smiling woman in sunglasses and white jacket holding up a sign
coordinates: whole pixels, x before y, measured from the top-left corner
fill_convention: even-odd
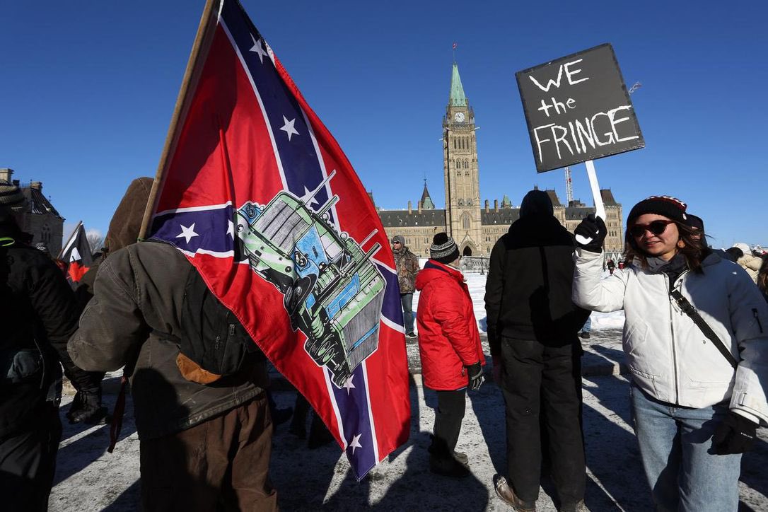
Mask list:
[[[743,269],[702,246],[674,197],[632,208],[631,265],[607,279],[603,220],[575,233],[574,302],[626,315],[634,430],[657,510],[737,510],[741,454],[768,423],[768,305]]]

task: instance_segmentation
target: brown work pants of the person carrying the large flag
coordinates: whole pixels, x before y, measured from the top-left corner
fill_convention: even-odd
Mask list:
[[[277,510],[266,395],[163,438],[141,441],[144,510]]]

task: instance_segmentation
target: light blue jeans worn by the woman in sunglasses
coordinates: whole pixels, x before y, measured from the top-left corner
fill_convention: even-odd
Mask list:
[[[741,454],[717,455],[712,434],[726,404],[684,408],[631,385],[632,416],[657,510],[727,512],[739,507]]]

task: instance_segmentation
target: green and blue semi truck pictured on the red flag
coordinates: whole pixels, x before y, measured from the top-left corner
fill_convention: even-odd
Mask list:
[[[376,231],[358,244],[330,222],[338,200],[316,212],[286,191],[266,206],[248,201],[237,210],[237,236],[251,269],[283,293],[306,352],[341,387],[378,348],[386,283],[371,261],[381,245],[361,248]]]

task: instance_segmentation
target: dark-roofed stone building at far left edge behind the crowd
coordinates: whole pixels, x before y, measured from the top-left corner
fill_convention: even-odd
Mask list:
[[[64,217],[59,215],[51,201],[43,195],[43,183],[41,181],[19,183],[19,180],[13,179],[13,170],[7,168],[0,169],[0,180],[15,183],[24,193],[27,203],[22,230],[32,235],[31,245],[34,247],[38,243],[45,243],[48,252],[58,256],[61,252],[61,239],[64,236]]]

